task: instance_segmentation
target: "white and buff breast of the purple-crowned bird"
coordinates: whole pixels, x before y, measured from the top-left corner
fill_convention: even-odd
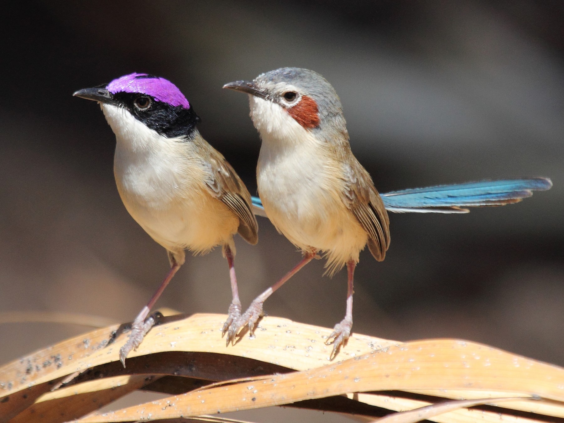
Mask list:
[[[124,205],[165,248],[205,252],[227,243],[239,220],[205,186],[206,170],[178,140],[133,151],[116,145],[114,175]]]

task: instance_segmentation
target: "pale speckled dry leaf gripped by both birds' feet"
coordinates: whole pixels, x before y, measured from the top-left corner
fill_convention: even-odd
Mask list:
[[[129,357],[163,351],[195,351],[252,358],[296,370],[331,364],[328,357],[332,346],[323,341],[332,329],[268,316],[260,321],[256,337],[245,337],[234,346],[226,347],[221,336],[225,319],[225,315],[218,314],[164,318],[164,323],[153,327]],[[10,395],[96,365],[117,362],[118,351],[127,337],[125,328],[126,325],[113,325],[98,329],[0,367],[0,395]],[[394,344],[398,342],[354,333],[338,358],[346,359]]]

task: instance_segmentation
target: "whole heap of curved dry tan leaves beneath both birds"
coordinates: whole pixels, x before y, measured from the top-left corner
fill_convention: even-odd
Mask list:
[[[324,344],[331,329],[267,317],[254,338],[244,336],[226,347],[224,319],[211,314],[165,318],[130,355],[125,369],[118,361],[125,325],[8,363],[0,368],[0,421],[26,421],[38,412],[52,423],[72,420],[138,389],[176,395],[79,421],[217,416],[218,411],[284,404],[372,420],[421,408],[396,415],[406,422],[415,421],[416,413],[439,423],[470,423],[478,416],[492,423],[564,419],[564,369],[556,365],[468,341],[401,343],[360,334],[353,334],[331,362],[331,346]],[[523,399],[507,399],[512,397]],[[422,408],[432,404],[437,405]]]

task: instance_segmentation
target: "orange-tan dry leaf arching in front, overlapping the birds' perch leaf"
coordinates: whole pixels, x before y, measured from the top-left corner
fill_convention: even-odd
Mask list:
[[[457,340],[415,341],[309,371],[203,388],[78,421],[190,417],[379,390],[506,390],[564,402],[562,381],[562,368],[493,347]]]

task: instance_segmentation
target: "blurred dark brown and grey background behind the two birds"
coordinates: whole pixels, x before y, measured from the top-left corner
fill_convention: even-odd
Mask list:
[[[72,97],[130,72],[176,83],[200,131],[255,192],[260,142],[245,96],[283,66],[323,74],[352,151],[381,192],[547,176],[548,192],[468,215],[391,215],[386,261],[361,255],[355,331],[459,337],[564,365],[564,3],[558,0],[12,2],[0,23],[0,311],[128,321],[168,269],[114,185],[114,135]],[[259,218],[237,239],[244,306],[299,259]],[[332,327],[345,272],[306,267],[266,303]],[[220,250],[189,257],[159,302],[226,312]],[[2,324],[0,362],[85,331]]]

